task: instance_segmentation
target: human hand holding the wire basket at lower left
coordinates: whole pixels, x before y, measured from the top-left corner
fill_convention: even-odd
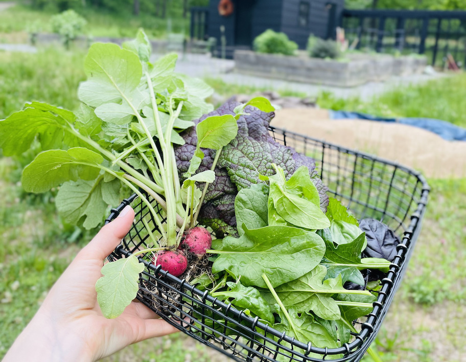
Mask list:
[[[95,361],[147,338],[177,329],[142,303],[132,302],[115,319],[97,303],[96,281],[103,260],[128,233],[134,211],[127,206],[85,246],[50,290],[4,362]]]

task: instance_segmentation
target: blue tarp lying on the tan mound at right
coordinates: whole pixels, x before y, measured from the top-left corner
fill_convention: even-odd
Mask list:
[[[447,141],[466,141],[466,129],[455,126],[446,121],[431,118],[383,118],[367,115],[359,112],[347,112],[344,110],[329,110],[331,119],[362,119],[379,122],[398,122],[410,126],[419,127],[438,134]]]

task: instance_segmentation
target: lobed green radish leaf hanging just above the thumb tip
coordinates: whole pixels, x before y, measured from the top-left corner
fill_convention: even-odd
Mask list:
[[[120,203],[120,188],[120,180],[104,182],[103,175],[91,181],[69,181],[58,190],[55,204],[66,222],[77,224],[83,219],[83,227],[92,229],[104,220],[109,205]]]

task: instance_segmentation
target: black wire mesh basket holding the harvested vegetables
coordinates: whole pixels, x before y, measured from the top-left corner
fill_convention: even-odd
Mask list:
[[[155,267],[151,255],[140,258],[146,268],[140,276],[137,299],[197,341],[238,361],[358,361],[374,341],[400,286],[421,230],[429,186],[420,173],[396,163],[282,129],[270,127],[270,132],[276,142],[315,159],[329,196],[339,199],[358,219],[384,222],[401,240],[374,309],[353,322],[358,333],[352,333],[351,341],[339,348],[316,348],[308,341],[297,341]],[[109,256],[110,261],[150,247],[157,234],[147,207],[135,194],[112,209],[106,222],[126,205],[136,212],[133,227]],[[153,205],[162,214],[154,201]]]

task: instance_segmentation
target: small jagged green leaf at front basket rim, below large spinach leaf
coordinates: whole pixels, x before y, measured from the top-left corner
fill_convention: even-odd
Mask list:
[[[245,287],[239,281],[238,283],[227,282],[229,287],[227,291],[219,291],[215,293],[215,296],[226,300],[228,298],[233,299],[231,304],[234,304],[240,308],[249,309],[259,318],[273,323],[275,318],[272,314],[270,306],[267,301],[262,298],[261,293],[254,287]]]

